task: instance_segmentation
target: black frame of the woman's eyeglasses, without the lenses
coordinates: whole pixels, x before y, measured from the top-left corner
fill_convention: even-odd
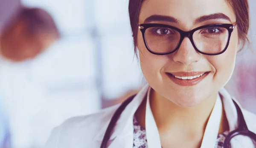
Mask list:
[[[174,29],[174,30],[176,30],[177,32],[179,32],[179,33],[180,33],[180,41],[179,41],[178,45],[176,46],[176,48],[175,48],[174,50],[172,50],[171,52],[166,52],[166,53],[153,52],[153,51],[148,47],[148,44],[147,44],[147,41],[146,41],[146,38],[145,38],[145,31],[146,31],[146,29],[151,28],[151,27],[170,28],[170,29]],[[228,32],[229,32],[227,44],[226,44],[224,50],[222,50],[222,51],[219,52],[219,53],[204,53],[204,52],[201,52],[201,51],[195,46],[195,43],[194,43],[194,40],[193,40],[193,34],[194,34],[194,32],[196,32],[196,31],[199,30],[199,29],[209,28],[209,27],[222,27],[222,28],[226,28],[226,29],[228,30]],[[185,31],[183,31],[183,30],[181,30],[181,29],[178,29],[178,28],[176,28],[176,27],[174,27],[174,26],[169,26],[169,25],[165,25],[165,24],[159,24],[159,23],[142,23],[142,24],[139,24],[139,29],[140,29],[140,31],[141,31],[141,33],[142,33],[143,40],[144,40],[144,44],[145,44],[147,50],[148,50],[149,52],[151,52],[152,54],[154,54],[154,55],[169,55],[169,54],[171,54],[171,53],[177,51],[177,50],[180,48],[180,45],[181,45],[181,43],[182,43],[182,41],[183,41],[183,39],[184,39],[185,37],[188,37],[188,38],[189,38],[189,40],[191,41],[191,43],[192,43],[194,49],[195,49],[197,52],[199,52],[199,53],[201,53],[201,54],[204,54],[204,55],[220,55],[220,54],[224,53],[224,52],[227,50],[227,47],[228,47],[229,42],[230,42],[231,33],[233,32],[233,29],[235,29],[235,28],[236,28],[236,23],[234,23],[234,24],[220,23],[220,24],[211,24],[211,25],[200,26],[200,27],[197,27],[197,28],[195,28],[195,29],[192,29],[192,30],[190,30],[190,31],[188,31],[188,32],[185,32]]]

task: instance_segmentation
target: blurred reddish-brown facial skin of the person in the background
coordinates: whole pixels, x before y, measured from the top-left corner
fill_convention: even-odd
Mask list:
[[[14,26],[8,36],[1,36],[0,44],[1,54],[11,61],[34,59],[57,39],[57,36],[51,32],[27,35],[26,23],[22,21],[17,21]]]

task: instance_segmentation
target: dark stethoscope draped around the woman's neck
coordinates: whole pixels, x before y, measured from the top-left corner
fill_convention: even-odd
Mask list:
[[[136,96],[136,95],[134,95]],[[108,125],[108,128],[105,132],[105,135],[103,137],[102,143],[100,148],[107,148],[107,143],[108,140],[110,139],[111,132],[113,128],[116,125],[117,120],[119,119],[119,116],[121,115],[122,111],[125,110],[125,107],[134,99],[134,96],[129,97],[127,100],[125,100],[116,110],[116,112],[113,114],[110,123]],[[256,142],[256,134],[249,131],[247,128],[246,122],[244,120],[244,115],[241,111],[241,108],[239,105],[233,100],[236,110],[237,110],[237,115],[238,115],[238,128],[234,131],[231,131],[225,138],[224,140],[224,145],[223,148],[230,148],[230,142],[231,139],[235,136],[243,135],[243,136],[248,136],[250,137],[253,141]]]

